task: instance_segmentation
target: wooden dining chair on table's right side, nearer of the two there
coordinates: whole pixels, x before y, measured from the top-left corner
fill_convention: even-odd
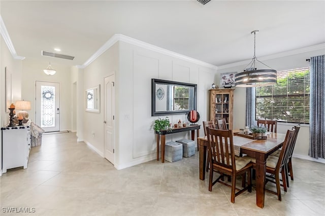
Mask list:
[[[289,150],[291,146],[293,145],[293,137],[294,137],[295,129],[293,130],[288,130],[285,135],[285,139],[283,141],[282,149],[280,152],[279,157],[275,157],[270,155],[267,160],[266,160],[266,172],[269,173],[270,175],[266,175],[266,182],[272,182],[276,184],[276,192],[265,189],[265,191],[275,194],[278,196],[278,200],[281,201],[281,186],[283,187],[284,191],[287,191],[286,189],[286,161],[289,157]],[[250,158],[250,157],[248,157]],[[250,158],[252,163],[253,163],[253,169],[256,168],[256,159],[255,158]],[[280,173],[282,176],[282,185],[280,183]],[[274,180],[275,181],[274,181]]]

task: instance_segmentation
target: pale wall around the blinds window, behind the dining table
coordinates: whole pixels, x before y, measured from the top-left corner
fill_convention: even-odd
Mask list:
[[[323,54],[325,54],[325,50],[320,49],[315,51],[299,53],[295,55],[274,58],[270,60],[262,60],[262,62],[269,65],[273,69],[279,71],[279,70],[307,67],[309,66],[309,62],[306,61],[306,59],[309,59],[312,56],[318,56]],[[248,63],[249,61],[247,61],[246,64],[234,66],[234,67],[222,66],[224,68],[218,69],[218,75],[220,75],[220,73],[228,73],[228,72],[236,72],[236,71],[240,73],[241,71],[243,71],[243,69]],[[217,76],[217,80],[219,79],[220,76]],[[246,107],[246,88],[238,87],[234,91],[234,128],[244,128],[245,107]],[[294,125],[295,124],[278,123],[277,131],[279,133],[285,133],[286,130],[291,129]],[[310,159],[310,157],[308,156],[308,150],[309,150],[309,125],[302,125],[300,132],[298,134],[294,156]]]

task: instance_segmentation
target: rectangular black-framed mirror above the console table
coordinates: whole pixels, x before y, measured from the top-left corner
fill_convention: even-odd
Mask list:
[[[197,109],[197,84],[151,79],[151,116],[185,114]]]

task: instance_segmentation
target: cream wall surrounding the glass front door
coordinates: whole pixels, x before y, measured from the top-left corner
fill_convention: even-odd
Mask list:
[[[36,81],[60,83],[60,130],[71,130],[71,67],[62,64],[52,64],[56,74],[48,76],[43,72],[43,69],[49,64],[48,58],[42,62],[33,59],[24,59],[22,62],[22,93],[21,98],[18,99],[30,101],[31,110],[27,111],[29,114],[28,119],[35,122]]]

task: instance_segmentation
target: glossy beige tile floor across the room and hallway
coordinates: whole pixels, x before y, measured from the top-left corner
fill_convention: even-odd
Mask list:
[[[36,212],[1,215],[325,215],[325,164],[294,159],[295,181],[282,201],[266,193],[265,207],[255,191],[230,202],[230,188],[208,191],[199,179],[199,155],[164,164],[150,161],[116,170],[75,133],[43,135],[32,148],[27,169],[0,177],[1,207]],[[240,181],[239,181],[240,182]],[[272,185],[268,187],[273,187]]]

